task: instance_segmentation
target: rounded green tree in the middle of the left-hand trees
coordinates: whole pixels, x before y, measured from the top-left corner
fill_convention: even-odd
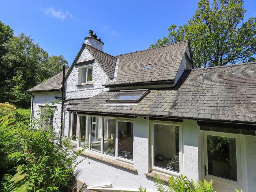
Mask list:
[[[4,46],[8,52],[2,57],[1,102],[12,101],[17,106],[29,106],[30,96],[26,90],[41,82],[37,74],[46,63],[48,53],[24,33],[11,37]]]

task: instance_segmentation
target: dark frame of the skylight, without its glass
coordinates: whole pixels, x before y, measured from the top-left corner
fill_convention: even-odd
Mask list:
[[[144,93],[142,93],[138,99],[111,99],[111,98],[113,98],[113,97],[116,97],[116,95],[118,95],[118,94],[120,94],[120,93],[125,93],[125,92],[139,92],[139,91],[144,91]],[[106,102],[108,102],[108,103],[138,103],[138,102],[140,102],[149,92],[150,92],[150,89],[121,90],[121,91],[119,91],[117,94],[115,94],[114,96],[112,96],[111,98],[107,99]]]

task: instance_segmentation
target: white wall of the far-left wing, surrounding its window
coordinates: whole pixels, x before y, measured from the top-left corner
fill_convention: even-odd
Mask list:
[[[45,103],[52,105],[52,102],[59,101],[59,103],[54,103],[54,106],[57,106],[56,111],[53,114],[53,128],[60,128],[61,122],[61,102],[56,100],[54,97],[61,97],[61,92],[52,92],[52,93],[33,93],[34,103],[33,103],[33,114],[34,118],[39,118],[40,116],[40,106],[44,106]]]

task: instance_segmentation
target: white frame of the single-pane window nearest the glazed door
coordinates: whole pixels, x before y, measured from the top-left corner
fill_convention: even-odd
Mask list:
[[[179,160],[180,160],[180,172],[174,172],[171,170],[163,169],[161,167],[154,166],[154,124],[162,124],[162,125],[173,125],[178,126],[179,128]],[[150,159],[150,170],[167,174],[170,176],[178,177],[181,174],[183,174],[183,134],[182,134],[182,123],[176,123],[176,122],[166,122],[166,121],[153,121],[150,120],[150,153],[149,153],[149,159]]]

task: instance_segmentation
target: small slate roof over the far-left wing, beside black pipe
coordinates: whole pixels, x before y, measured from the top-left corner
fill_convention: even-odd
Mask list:
[[[67,68],[65,70],[65,75],[68,72]],[[51,77],[50,79],[47,79],[46,81],[32,87],[31,89],[27,90],[27,92],[36,92],[36,91],[61,91],[62,87],[62,71]]]

